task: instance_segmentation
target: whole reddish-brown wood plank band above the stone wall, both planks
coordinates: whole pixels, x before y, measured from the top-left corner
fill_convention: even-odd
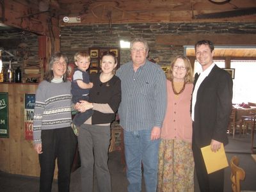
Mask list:
[[[81,25],[104,24],[109,23],[109,20],[111,20],[111,23],[255,21],[256,14],[241,17],[225,17],[221,19],[193,19],[193,15],[218,13],[256,6],[253,0],[243,0],[243,3],[240,1],[241,0],[232,0],[232,3],[214,4],[206,0],[59,0],[61,8],[69,11],[68,14],[61,15],[60,24],[61,26],[72,25],[70,23],[61,22],[64,16],[81,17]],[[108,16],[109,13],[111,13],[111,18]],[[74,25],[77,25],[77,23]]]

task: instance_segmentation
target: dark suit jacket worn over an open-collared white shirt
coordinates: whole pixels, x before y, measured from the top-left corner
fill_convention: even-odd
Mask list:
[[[195,77],[194,87],[197,79],[198,76]],[[197,147],[210,145],[212,139],[227,145],[232,87],[230,74],[216,65],[200,84],[193,122],[193,144]]]

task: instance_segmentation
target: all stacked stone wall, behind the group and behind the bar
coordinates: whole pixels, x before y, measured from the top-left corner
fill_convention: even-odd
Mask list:
[[[173,45],[157,45],[157,35],[186,35],[191,33],[211,34],[231,33],[231,34],[255,34],[256,22],[211,22],[211,23],[141,23],[141,24],[94,24],[86,26],[66,26],[61,28],[61,51],[67,54],[70,62],[77,51],[87,51],[88,47],[119,47],[120,40],[131,41],[132,38],[142,36],[148,41],[150,52],[149,57],[159,59],[159,64],[170,65],[173,57],[184,53],[184,47]],[[0,31],[1,42],[5,41],[8,48],[6,50],[15,55],[17,64],[22,67],[24,57],[29,57],[29,63],[38,63],[38,40],[37,35],[22,31],[20,29],[10,29]],[[10,40],[10,43],[9,43]],[[14,41],[12,41],[14,40]],[[13,43],[16,42],[16,43]],[[19,47],[18,45],[26,45]],[[3,47],[4,48],[4,47]],[[130,60],[129,49],[120,51],[120,64]]]

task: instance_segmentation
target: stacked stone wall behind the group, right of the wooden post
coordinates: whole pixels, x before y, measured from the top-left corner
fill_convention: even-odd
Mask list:
[[[157,45],[157,35],[191,34],[191,33],[256,33],[256,22],[211,22],[211,23],[143,23],[143,24],[95,24],[88,26],[66,26],[61,28],[61,51],[68,55],[70,61],[77,51],[88,47],[119,47],[120,40],[131,41],[142,36],[150,47],[149,57],[159,58],[159,65],[170,65],[173,57],[184,53],[184,47]],[[130,60],[129,50],[120,51],[121,65]]]

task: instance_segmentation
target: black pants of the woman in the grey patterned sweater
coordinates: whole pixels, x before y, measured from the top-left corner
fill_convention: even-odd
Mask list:
[[[55,160],[58,163],[58,191],[69,191],[70,173],[76,151],[77,139],[71,127],[42,130],[42,154],[40,163],[40,192],[52,188]]]

